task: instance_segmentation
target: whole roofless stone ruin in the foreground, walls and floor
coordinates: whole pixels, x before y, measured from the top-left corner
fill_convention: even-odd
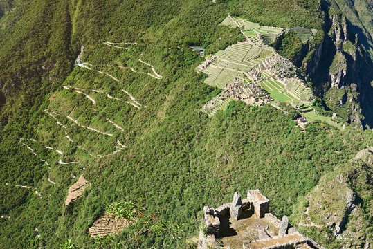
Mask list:
[[[250,215],[247,215],[250,214]],[[246,237],[257,239],[242,239],[239,243],[243,249],[293,249],[293,248],[318,248],[324,249],[312,239],[300,234],[295,228],[289,225],[287,216],[280,221],[269,212],[269,199],[259,190],[248,190],[246,199],[242,199],[238,192],[233,195],[231,203],[225,203],[218,208],[203,208],[204,230],[199,231],[198,249],[223,249],[230,248],[230,244],[219,245],[217,239],[224,241],[226,236],[239,236],[224,234],[224,220],[239,222],[251,219],[247,223],[253,227],[255,234],[245,234]],[[228,224],[232,224],[229,222]],[[266,225],[266,229],[259,229],[257,223]],[[226,224],[226,223],[225,223]],[[231,226],[231,225],[230,225]],[[269,231],[269,227],[273,230]],[[246,228],[248,230],[248,228]],[[239,237],[241,238],[241,237]],[[237,247],[235,247],[237,249]]]

